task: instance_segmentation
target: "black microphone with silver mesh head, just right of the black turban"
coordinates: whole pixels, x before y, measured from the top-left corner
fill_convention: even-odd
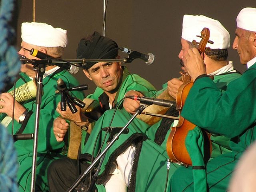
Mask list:
[[[146,64],[150,65],[154,62],[155,56],[152,53],[141,53],[137,51],[132,51],[131,49],[125,48],[125,47],[120,47],[119,48],[122,52],[125,52],[129,55],[128,58],[131,58],[132,60],[136,58],[140,58],[143,61],[145,61]]]

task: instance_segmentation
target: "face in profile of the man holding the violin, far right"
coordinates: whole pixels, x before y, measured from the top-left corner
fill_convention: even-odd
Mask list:
[[[247,62],[255,56],[255,48],[253,47],[252,41],[252,37],[248,35],[246,30],[239,27],[236,28],[236,38],[233,43],[233,49],[237,50],[241,64],[247,64]]]

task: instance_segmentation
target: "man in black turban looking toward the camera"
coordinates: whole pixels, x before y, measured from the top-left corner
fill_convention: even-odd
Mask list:
[[[119,58],[118,45],[112,39],[103,37],[98,32],[94,32],[93,35],[87,38],[82,38],[79,42],[77,48],[77,58]],[[131,74],[126,67],[121,66],[120,62],[86,63],[82,67],[87,78],[97,85],[94,93],[88,95],[87,98],[84,99],[84,102],[86,103],[85,107],[90,108],[91,106],[97,106],[95,108],[100,109],[100,114],[103,114],[109,109],[115,108],[116,104],[125,96],[125,93],[127,93],[129,90],[139,90],[145,93],[145,96],[148,97],[154,96],[156,92],[155,88],[148,81],[136,74]],[[70,128],[72,128],[71,123],[75,123],[76,126],[78,126],[80,129],[78,135],[80,136],[82,133],[82,137],[80,138],[82,151],[87,141],[88,135],[98,135],[101,133],[101,131],[99,133],[99,130],[102,130],[102,128],[101,125],[97,125],[97,123],[95,123],[94,127],[96,128],[97,126],[97,129],[93,129],[92,125],[94,125],[94,123],[91,122],[95,122],[97,120],[96,118],[92,119],[93,112],[84,112],[84,109],[81,109],[77,106],[76,108],[78,112],[72,114],[69,109],[67,109],[67,111],[61,111],[61,106],[59,104],[57,111],[61,114],[62,118],[59,117],[55,119],[53,124],[53,131],[56,140],[58,142],[63,142],[64,136],[69,128],[69,124],[65,119],[70,121]],[[93,142],[95,141],[90,141],[90,145],[93,145]],[[70,157],[68,153],[67,158],[55,160],[50,165],[48,169],[50,191],[66,191],[79,177],[80,172],[85,171],[86,167],[80,163],[80,161],[76,160],[76,158],[77,152],[76,157]],[[81,166],[81,170],[77,169],[79,166]],[[118,187],[119,184],[120,183],[116,183],[116,187]],[[125,183],[120,185],[126,189]]]

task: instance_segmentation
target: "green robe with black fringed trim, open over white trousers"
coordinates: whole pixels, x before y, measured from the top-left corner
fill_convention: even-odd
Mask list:
[[[239,73],[229,73],[226,75],[223,74],[215,76],[215,82],[218,84],[219,89],[225,90],[227,84],[230,81],[237,79],[239,76],[241,76]],[[166,84],[164,86],[164,89],[166,89]],[[161,90],[160,92],[162,91],[163,90]],[[105,112],[104,115],[96,123],[97,128],[95,127],[95,129],[97,130],[97,132],[96,130],[93,130],[95,131],[94,133],[98,133],[99,130],[103,127],[108,127],[112,115],[113,110]],[[129,113],[124,110],[118,110],[115,113],[111,126],[123,127],[130,119],[131,115]],[[167,127],[167,129],[165,127],[164,129],[166,129],[166,131],[157,131],[160,127],[160,124],[161,121],[157,122],[152,126],[149,126],[140,119],[134,119],[128,126],[128,134],[121,134],[119,140],[117,140],[116,143],[114,143],[114,145],[107,152],[105,161],[101,167],[101,172],[96,183],[102,184],[105,181],[105,178],[110,171],[111,163],[114,162],[116,157],[119,154],[122,154],[122,152],[125,151],[125,149],[129,145],[131,145],[131,143],[135,143],[136,152],[134,154],[134,163],[132,167],[132,175],[128,186],[128,191],[163,191],[165,186],[164,178],[166,177],[167,173],[166,161],[169,158],[166,153],[166,140],[169,136],[170,127]],[[156,141],[156,138],[160,136],[159,133],[165,134],[162,135],[163,139],[161,141]],[[90,143],[95,142],[96,136],[97,135],[94,134],[94,137],[89,138]],[[94,157],[95,154],[97,154],[97,152],[99,151],[104,136],[105,133],[102,133],[101,137],[99,137],[96,142]],[[105,146],[106,144],[104,143],[103,148],[105,148]],[[81,156],[83,160],[90,161],[92,151],[93,145],[85,145],[85,148],[83,150],[84,154]],[[171,176],[178,167],[179,166],[177,164],[172,164],[169,171],[169,176]],[[98,189],[100,189],[100,187],[102,188],[102,191],[104,191],[102,185],[98,186]]]

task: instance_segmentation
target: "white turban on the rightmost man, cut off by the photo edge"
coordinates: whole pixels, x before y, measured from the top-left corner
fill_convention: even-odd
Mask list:
[[[242,9],[236,17],[236,26],[256,32],[256,8],[247,7]]]

